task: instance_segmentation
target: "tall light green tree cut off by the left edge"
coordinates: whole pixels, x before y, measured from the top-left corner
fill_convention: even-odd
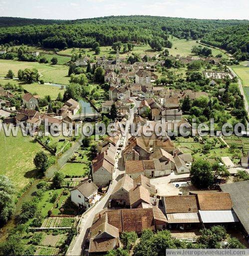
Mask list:
[[[11,180],[0,175],[0,221],[6,223],[15,210],[14,186]]]

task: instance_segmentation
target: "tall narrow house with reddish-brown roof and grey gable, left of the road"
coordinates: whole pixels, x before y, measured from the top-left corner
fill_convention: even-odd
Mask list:
[[[115,157],[111,150],[106,150],[92,160],[92,178],[98,187],[107,186],[112,180]]]

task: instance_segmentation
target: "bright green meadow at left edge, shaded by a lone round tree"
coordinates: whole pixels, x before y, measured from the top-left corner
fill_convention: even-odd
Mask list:
[[[36,152],[42,150],[40,144],[33,142],[30,136],[5,136],[0,131],[0,174],[8,176],[14,183],[16,190],[20,191],[30,178],[37,177],[33,164]]]

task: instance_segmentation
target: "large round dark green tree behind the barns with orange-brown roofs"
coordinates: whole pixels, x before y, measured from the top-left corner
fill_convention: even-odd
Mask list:
[[[209,161],[198,159],[190,169],[191,182],[198,188],[208,188],[214,183],[212,166]]]

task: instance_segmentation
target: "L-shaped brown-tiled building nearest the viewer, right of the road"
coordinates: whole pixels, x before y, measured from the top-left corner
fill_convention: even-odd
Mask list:
[[[155,230],[152,208],[117,209],[104,208],[97,213],[90,228],[89,255],[104,255],[108,250],[120,246],[119,234],[144,229]]]

